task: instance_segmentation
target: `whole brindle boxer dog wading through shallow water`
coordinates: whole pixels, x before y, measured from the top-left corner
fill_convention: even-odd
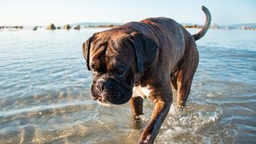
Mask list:
[[[185,106],[198,67],[195,41],[210,26],[206,22],[198,34],[190,35],[170,18],[147,18],[94,34],[83,43],[88,70],[92,70],[91,98],[103,105],[130,101],[134,118],[142,114],[143,98],[154,103],[150,123],[139,143],[153,143],[170,110],[172,88],[177,90],[177,106]]]

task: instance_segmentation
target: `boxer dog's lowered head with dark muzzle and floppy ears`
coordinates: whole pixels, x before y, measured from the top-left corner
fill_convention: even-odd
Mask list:
[[[83,43],[92,71],[91,98],[100,104],[120,105],[130,100],[134,78],[154,62],[158,46],[134,31],[106,30]]]

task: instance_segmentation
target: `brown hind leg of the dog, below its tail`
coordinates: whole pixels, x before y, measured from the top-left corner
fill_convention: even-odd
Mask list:
[[[198,67],[198,50],[196,45],[190,45],[188,49],[190,50],[185,54],[185,57],[178,66],[177,106],[181,108],[186,104],[186,99],[190,94],[190,87],[193,81],[194,73]]]

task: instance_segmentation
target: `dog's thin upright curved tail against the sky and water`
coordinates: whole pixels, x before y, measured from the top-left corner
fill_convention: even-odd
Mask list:
[[[195,41],[202,38],[210,27],[210,21],[211,21],[210,11],[205,6],[202,6],[202,11],[206,14],[206,22],[205,22],[205,25],[202,26],[202,29],[198,32],[198,34],[193,35],[193,38]]]

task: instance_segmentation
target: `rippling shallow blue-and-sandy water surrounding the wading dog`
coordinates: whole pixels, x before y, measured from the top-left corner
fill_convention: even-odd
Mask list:
[[[101,30],[0,31],[0,143],[138,142],[150,99],[141,125],[129,104],[90,99],[82,42]],[[197,45],[187,106],[172,105],[155,143],[256,143],[256,32],[209,30]]]

